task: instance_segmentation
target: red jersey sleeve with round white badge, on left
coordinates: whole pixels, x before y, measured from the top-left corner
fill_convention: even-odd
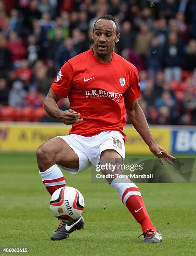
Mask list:
[[[74,70],[71,64],[69,64],[69,62],[65,62],[57,74],[56,81],[51,85],[53,92],[60,97],[66,98],[71,89],[73,77]]]

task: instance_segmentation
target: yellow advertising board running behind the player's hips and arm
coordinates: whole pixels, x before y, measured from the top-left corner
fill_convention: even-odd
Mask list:
[[[53,123],[0,123],[0,151],[36,151],[38,146],[49,139],[67,135],[71,126]],[[170,151],[171,129],[152,127],[151,131],[158,144]],[[126,125],[126,153],[151,154],[148,146],[131,125]]]

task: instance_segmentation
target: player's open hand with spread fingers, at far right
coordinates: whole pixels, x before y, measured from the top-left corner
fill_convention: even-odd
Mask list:
[[[164,148],[159,146],[157,143],[153,143],[152,145],[149,146],[150,151],[158,157],[159,161],[161,164],[164,165],[163,159],[168,163],[168,164],[173,164],[172,162],[176,163],[177,159],[173,157],[171,154],[169,154]],[[170,161],[171,160],[171,161]]]

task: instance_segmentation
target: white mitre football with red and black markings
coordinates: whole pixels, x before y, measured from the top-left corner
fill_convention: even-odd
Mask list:
[[[75,220],[84,210],[84,197],[74,187],[60,187],[51,197],[50,208],[59,220]]]

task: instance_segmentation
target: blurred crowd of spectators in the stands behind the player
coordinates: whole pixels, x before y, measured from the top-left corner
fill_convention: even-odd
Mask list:
[[[120,26],[115,52],[138,69],[148,123],[196,125],[195,0],[0,0],[0,120],[51,121],[44,97],[104,14]]]

